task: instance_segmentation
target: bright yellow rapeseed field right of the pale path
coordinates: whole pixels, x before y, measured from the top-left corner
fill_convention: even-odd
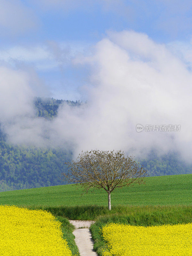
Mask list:
[[[108,244],[103,256],[192,256],[192,223],[151,227],[108,223],[102,233]]]

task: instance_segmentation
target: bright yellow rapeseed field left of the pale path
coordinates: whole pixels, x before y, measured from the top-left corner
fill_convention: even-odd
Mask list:
[[[60,225],[49,212],[0,205],[0,255],[72,256]]]

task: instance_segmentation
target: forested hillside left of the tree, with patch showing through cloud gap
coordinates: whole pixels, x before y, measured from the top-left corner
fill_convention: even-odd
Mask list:
[[[81,104],[80,101],[36,97],[36,116],[54,118],[63,102],[74,107]],[[71,158],[70,151],[8,144],[5,134],[0,130],[0,191],[66,184],[58,177],[61,177],[61,172],[65,172],[67,168],[64,163]]]

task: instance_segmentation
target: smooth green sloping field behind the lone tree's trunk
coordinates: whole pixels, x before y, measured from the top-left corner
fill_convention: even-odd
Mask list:
[[[146,177],[146,184],[116,189],[111,205],[192,204],[192,174]],[[0,204],[18,206],[108,205],[107,192],[95,189],[81,196],[81,188],[60,185],[0,192]]]

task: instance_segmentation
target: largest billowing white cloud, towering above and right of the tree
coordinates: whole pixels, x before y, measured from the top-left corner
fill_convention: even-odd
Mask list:
[[[69,124],[61,138],[77,133],[76,155],[82,149],[134,148],[136,156],[145,156],[141,152],[155,147],[160,154],[179,150],[190,161],[192,74],[178,57],[145,34],[123,31],[109,33],[83,61],[92,65],[90,105],[81,114],[60,110],[55,121],[58,127],[62,120]],[[138,123],[180,124],[181,131],[137,133]]]

